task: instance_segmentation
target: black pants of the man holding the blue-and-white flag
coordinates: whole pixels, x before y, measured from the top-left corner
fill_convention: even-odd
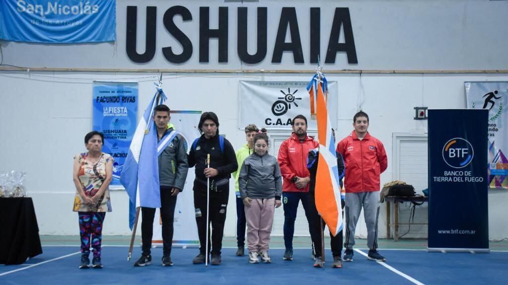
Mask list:
[[[161,187],[161,218],[162,218],[162,240],[163,254],[171,254],[171,245],[173,244],[173,220],[175,217],[176,197],[171,196],[171,188]],[[150,254],[153,235],[153,219],[155,217],[155,208],[141,207],[141,239],[143,245],[143,255]]]

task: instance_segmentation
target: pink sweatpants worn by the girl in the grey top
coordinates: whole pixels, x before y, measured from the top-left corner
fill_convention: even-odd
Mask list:
[[[252,199],[250,205],[245,206],[249,252],[268,251],[274,211],[275,198]]]

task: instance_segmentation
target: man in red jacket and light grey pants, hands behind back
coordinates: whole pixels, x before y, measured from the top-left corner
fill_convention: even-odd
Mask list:
[[[346,240],[344,261],[353,261],[355,228],[363,207],[367,225],[369,260],[386,261],[377,252],[377,221],[379,217],[379,175],[388,167],[383,143],[367,132],[369,116],[358,112],[353,117],[355,130],[337,145],[344,159],[346,190]]]

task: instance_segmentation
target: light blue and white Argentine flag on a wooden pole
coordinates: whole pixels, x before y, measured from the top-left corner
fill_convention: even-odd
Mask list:
[[[125,159],[120,183],[129,195],[129,227],[134,227],[136,207],[161,207],[158,177],[157,130],[153,122],[153,109],[166,101],[160,86],[147,106],[136,128],[129,153]]]

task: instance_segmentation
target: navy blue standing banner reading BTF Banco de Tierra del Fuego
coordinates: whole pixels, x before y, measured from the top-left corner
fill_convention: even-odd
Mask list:
[[[428,115],[428,251],[489,252],[488,111]]]

